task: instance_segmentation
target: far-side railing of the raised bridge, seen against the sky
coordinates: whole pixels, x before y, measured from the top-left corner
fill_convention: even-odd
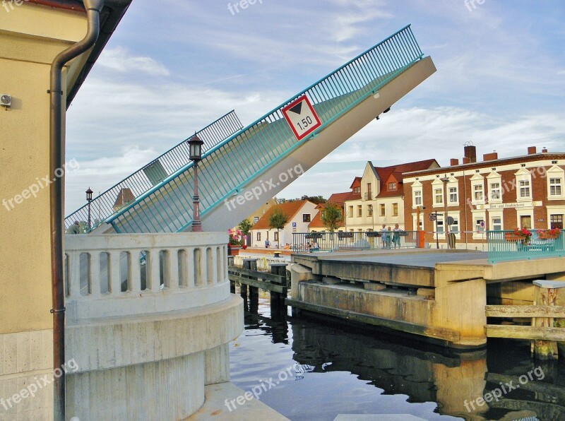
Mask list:
[[[197,131],[196,134],[204,142],[203,150],[208,150],[242,128],[242,122],[239,121],[237,114],[232,110],[204,129]],[[174,148],[167,150],[140,170],[107,189],[100,196],[93,198],[93,201],[90,202],[90,229],[104,223],[106,218],[119,211],[120,208],[129,205],[136,198],[188,165],[190,163],[188,140],[186,139]],[[65,228],[69,229],[75,221],[78,221],[83,230],[88,232],[88,208],[89,205],[86,204],[67,216]]]

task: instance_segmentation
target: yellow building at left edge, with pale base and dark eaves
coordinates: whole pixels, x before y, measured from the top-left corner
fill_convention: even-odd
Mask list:
[[[86,3],[86,2],[85,2]],[[129,1],[106,1],[93,49],[64,67],[66,109]],[[57,56],[87,33],[80,1],[6,1],[0,8],[0,402],[11,419],[53,417],[52,387],[33,404],[17,393],[53,369],[49,180],[50,69]],[[63,112],[64,115],[64,112]],[[64,120],[63,120],[64,127]],[[64,130],[63,130],[64,136]],[[19,396],[19,397],[18,397]],[[21,402],[18,402],[20,401]]]

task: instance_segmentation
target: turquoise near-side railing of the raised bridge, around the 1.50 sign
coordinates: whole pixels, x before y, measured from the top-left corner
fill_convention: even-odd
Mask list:
[[[422,57],[424,54],[408,25],[208,150],[198,166],[201,215],[238,194],[246,184]],[[313,105],[321,125],[307,138],[297,141],[282,109],[302,96]],[[107,222],[117,232],[185,230],[193,215],[189,199],[194,185],[191,167],[189,164],[179,170],[164,186],[148,191]]]

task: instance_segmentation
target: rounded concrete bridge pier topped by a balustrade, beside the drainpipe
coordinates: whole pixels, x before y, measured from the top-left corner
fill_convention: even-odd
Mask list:
[[[69,235],[65,255],[69,416],[182,420],[230,381],[244,325],[225,232]]]

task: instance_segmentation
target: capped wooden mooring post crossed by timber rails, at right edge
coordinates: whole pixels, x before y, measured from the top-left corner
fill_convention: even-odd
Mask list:
[[[565,282],[557,280],[535,280],[535,302],[538,305],[554,307],[557,299],[557,290],[565,287]],[[553,317],[537,317],[535,326],[553,328]],[[534,357],[537,360],[557,360],[559,351],[554,340],[534,340]]]

